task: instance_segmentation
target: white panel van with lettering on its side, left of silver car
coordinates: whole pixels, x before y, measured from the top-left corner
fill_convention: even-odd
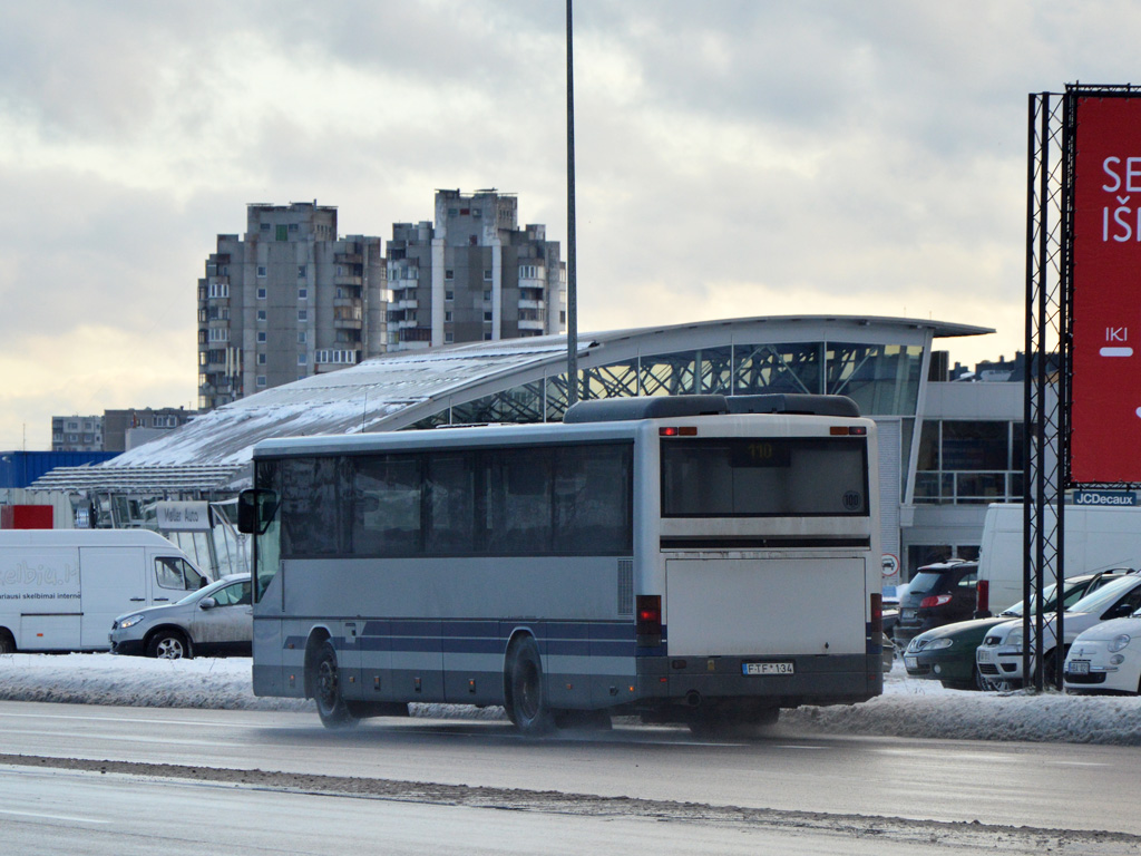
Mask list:
[[[0,531],[0,654],[108,651],[115,616],[210,581],[147,530]]]

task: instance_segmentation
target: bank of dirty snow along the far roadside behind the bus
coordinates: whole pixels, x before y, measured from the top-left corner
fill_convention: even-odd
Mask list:
[[[316,712],[311,701],[261,698],[250,688],[248,657],[151,660],[111,654],[0,655],[0,700],[230,710]],[[500,718],[502,710],[413,705],[413,714]],[[957,740],[1141,745],[1141,697],[1058,693],[972,693],[908,678],[901,663],[884,692],[864,704],[784,711],[785,728]]]

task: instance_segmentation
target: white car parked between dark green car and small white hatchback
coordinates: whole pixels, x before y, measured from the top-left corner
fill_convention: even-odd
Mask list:
[[[1079,633],[1094,624],[1110,619],[1132,615],[1141,607],[1141,574],[1130,573],[1106,583],[1086,595],[1069,609],[1063,619],[1065,644],[1062,653],[1069,648]],[[1033,625],[1031,625],[1033,630]],[[992,686],[1020,685],[1022,683],[1022,621],[1008,621],[987,631],[982,644],[974,652],[974,662],[982,680]],[[1031,651],[1034,639],[1028,641]],[[1043,681],[1054,683],[1062,657],[1057,653],[1054,616],[1046,616],[1043,629],[1042,653],[1045,668]],[[1034,668],[1031,662],[1030,668]]]

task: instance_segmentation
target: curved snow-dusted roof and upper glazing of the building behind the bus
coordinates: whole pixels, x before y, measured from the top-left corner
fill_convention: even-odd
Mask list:
[[[987,328],[853,316],[768,316],[581,334],[582,398],[834,393],[869,417],[914,417],[931,342]],[[566,337],[388,354],[199,415],[107,467],[244,469],[267,437],[561,420]]]

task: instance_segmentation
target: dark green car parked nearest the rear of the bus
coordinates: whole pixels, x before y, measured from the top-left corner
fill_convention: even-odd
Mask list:
[[[1118,576],[1119,574],[1111,572],[1073,576],[1066,581],[1062,603],[1069,608],[1087,593]],[[1044,612],[1058,608],[1053,584],[1043,589],[1042,597],[1045,604]],[[958,621],[920,633],[904,651],[904,668],[913,678],[939,680],[948,689],[986,689],[986,683],[974,660],[974,649],[982,644],[989,630],[1021,616],[1022,603],[1019,601],[992,617]]]

